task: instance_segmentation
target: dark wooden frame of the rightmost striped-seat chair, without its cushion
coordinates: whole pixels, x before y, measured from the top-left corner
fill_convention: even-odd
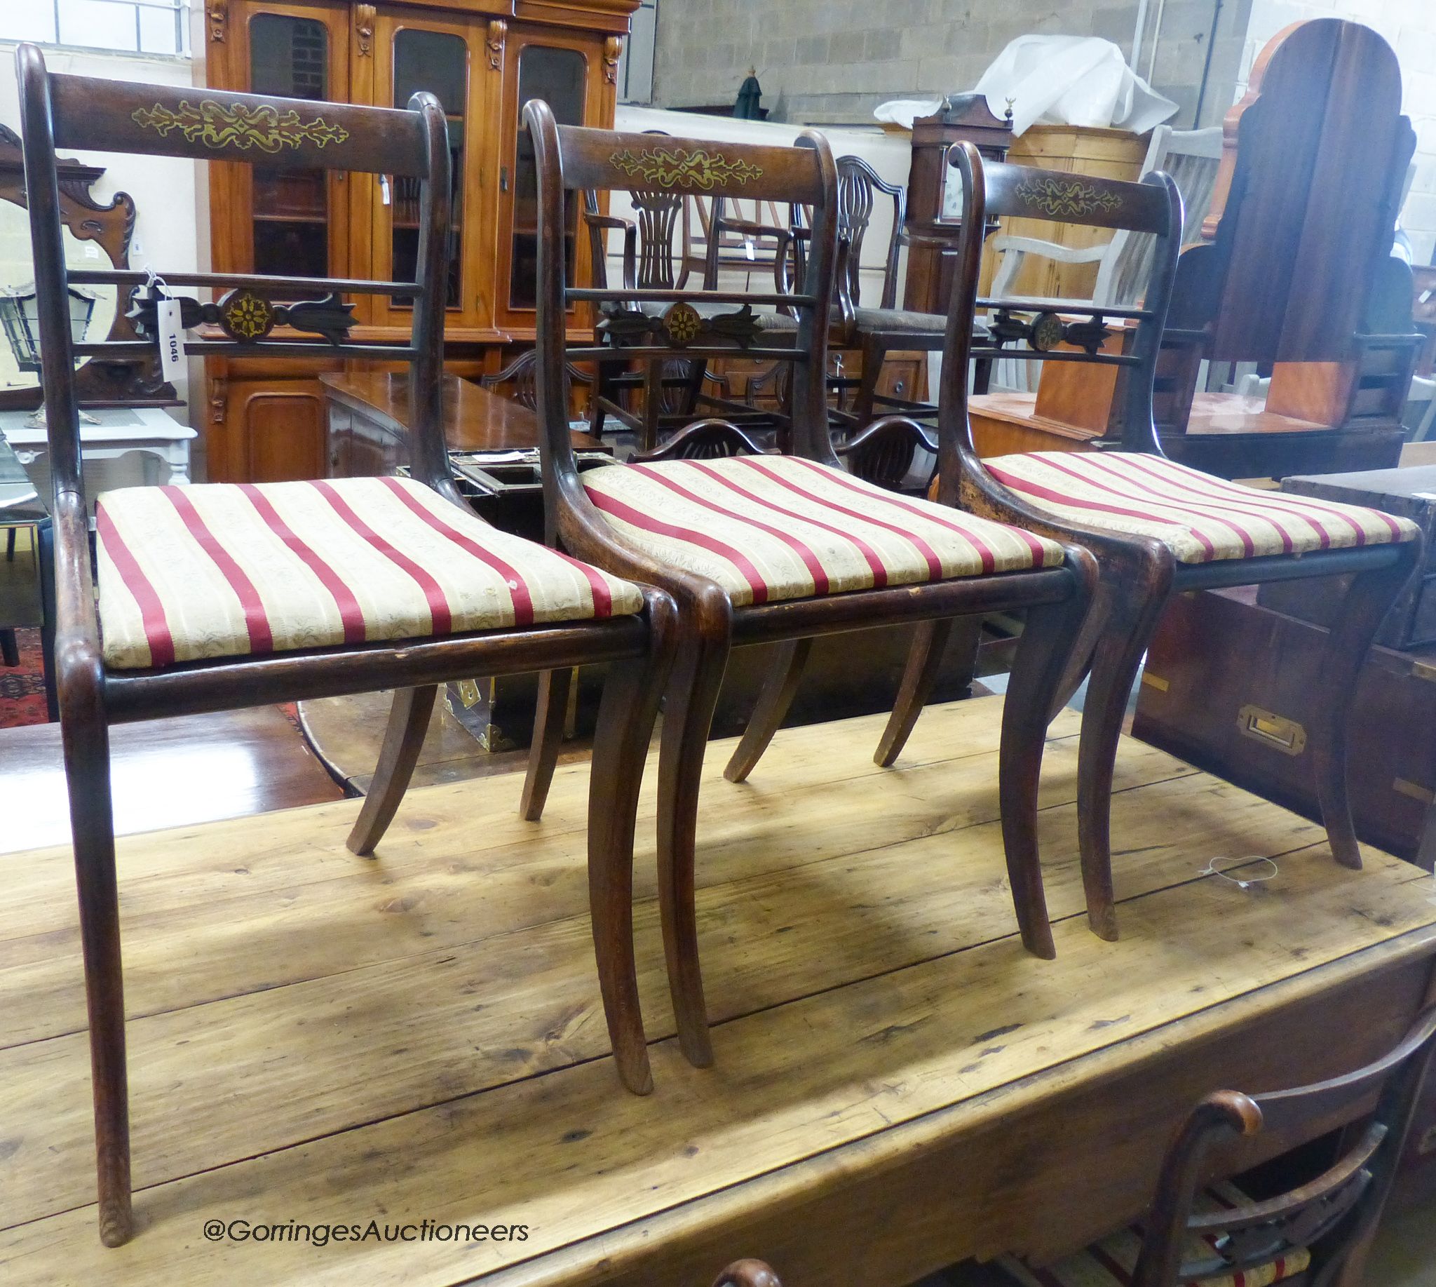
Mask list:
[[[1073,671],[1064,679],[1060,698],[1067,697],[1088,674],[1078,751],[1078,836],[1087,916],[1101,938],[1117,937],[1111,885],[1111,781],[1122,737],[1127,697],[1136,682],[1147,642],[1173,595],[1188,590],[1258,585],[1313,576],[1351,575],[1340,623],[1327,644],[1323,692],[1308,728],[1317,771],[1317,797],[1325,822],[1333,858],[1357,869],[1361,856],[1351,823],[1347,794],[1347,727],[1357,674],[1381,618],[1400,593],[1420,560],[1420,539],[1400,544],[1327,550],[1301,556],[1272,554],[1213,563],[1179,563],[1172,550],[1149,536],[1116,533],[1078,523],[1061,523],[1025,503],[1004,487],[982,464],[968,421],[968,368],[972,359],[1025,358],[1032,361],[1087,361],[1126,368],[1126,411],[1123,437],[1110,444],[1120,451],[1163,457],[1152,415],[1157,349],[1172,292],[1182,233],[1182,198],[1172,180],[1149,174],[1140,184],[1084,180],[1110,208],[1071,214],[1038,208],[1032,192],[1050,180],[1041,169],[988,164],[976,148],[954,145],[949,164],[964,182],[962,227],[958,237],[956,287],[948,319],[942,361],[942,414],[939,498],[988,519],[1027,527],[1054,540],[1074,542],[1096,557],[1101,569],[1096,605],[1074,651]],[[1143,307],[1120,307],[1093,302],[1051,302],[1061,315],[1084,320],[1104,317],[1136,323],[1130,352],[1064,353],[1014,349],[991,340],[974,342],[972,320],[978,305],[994,313],[1002,300],[979,300],[978,269],[982,259],[988,217],[1015,215],[1081,223],[1088,226],[1146,231],[1153,234],[1152,279]],[[1011,306],[1031,312],[1031,300]],[[1119,376],[1122,372],[1119,372]],[[877,751],[877,763],[890,764],[932,689],[936,659],[942,654],[942,631],[929,628],[919,635],[908,661],[902,692]]]

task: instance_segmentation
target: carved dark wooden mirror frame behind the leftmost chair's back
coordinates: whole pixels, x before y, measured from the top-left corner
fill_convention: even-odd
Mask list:
[[[96,201],[90,187],[105,174],[102,165],[86,165],[75,157],[59,157],[60,218],[79,241],[95,241],[116,269],[129,267],[129,240],[135,231],[135,201],[116,192],[109,204]],[[0,200],[22,210],[24,200],[24,159],[20,138],[0,124]],[[106,339],[141,339],[125,316],[128,292],[121,290],[115,320]],[[159,376],[159,353],[149,358],[90,358],[75,372],[76,392],[83,406],[178,406],[172,385]],[[0,411],[33,411],[40,405],[40,386],[0,389]]]

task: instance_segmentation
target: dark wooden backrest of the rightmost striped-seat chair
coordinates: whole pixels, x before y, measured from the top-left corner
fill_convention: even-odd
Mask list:
[[[1022,165],[984,162],[971,144],[954,145],[948,164],[962,180],[962,224],[956,244],[956,286],[948,312],[938,415],[939,496],[956,504],[964,474],[984,477],[968,421],[969,359],[1001,358],[1027,362],[1088,362],[1124,368],[1124,447],[1160,454],[1152,414],[1157,352],[1172,297],[1172,279],[1182,240],[1182,197],[1160,172],[1142,182],[1063,175]],[[1034,313],[1027,326],[1027,348],[974,342],[978,270],[987,221],[992,215],[1044,218],[1053,223],[1096,226],[1152,234],[1152,276],[1142,307],[1106,306],[1094,300],[982,299],[989,309],[989,330],[1001,332],[1004,309]],[[1074,325],[1068,325],[1070,317]],[[1136,333],[1126,353],[1100,352],[1110,333],[1106,319],[1132,323]],[[1041,338],[1041,329],[1047,338]],[[1086,327],[1086,329],[1084,329]],[[1015,327],[1021,330],[1022,327]],[[1050,348],[1050,343],[1086,343],[1086,348]]]

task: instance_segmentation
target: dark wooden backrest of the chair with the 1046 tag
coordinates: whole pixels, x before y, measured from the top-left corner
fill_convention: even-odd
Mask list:
[[[405,111],[182,90],[83,76],[52,75],[34,46],[17,52],[30,236],[39,283],[39,326],[45,355],[42,386],[53,487],[80,493],[76,356],[103,361],[152,353],[158,338],[75,343],[65,299],[72,282],[113,283],[122,290],[151,280],[148,271],[70,271],[60,240],[56,148],[233,161],[266,168],[326,168],[398,174],[421,181],[419,253],[415,282],[279,277],[237,273],[158,276],[168,287],[210,287],[221,297],[201,305],[181,299],[182,326],[218,322],[228,339],[187,339],[185,350],[273,358],[316,352],[411,363],[411,470],[414,477],[458,498],[441,427],[444,362],[444,233],[449,224],[448,126],[438,101],[416,93]],[[348,340],[348,306],[339,296],[404,294],[414,300],[408,345]],[[225,302],[234,303],[230,313]],[[276,300],[293,303],[276,305]],[[297,300],[297,302],[296,302]],[[154,302],[151,300],[151,307]],[[243,305],[243,309],[240,307]],[[142,310],[144,302],[136,303]],[[221,316],[223,315],[223,316]],[[257,319],[257,320],[253,320]],[[314,332],[313,339],[296,332]],[[248,332],[254,332],[253,335]],[[273,335],[273,338],[270,338]],[[66,540],[57,534],[57,543]]]

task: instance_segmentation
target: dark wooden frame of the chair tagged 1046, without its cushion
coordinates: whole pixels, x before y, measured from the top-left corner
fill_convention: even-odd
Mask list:
[[[418,93],[408,111],[316,103],[225,93],[221,111],[244,121],[309,122],[304,136],[277,152],[246,151],[237,128],[218,135],[198,126],[195,92],[46,72],[40,50],[17,50],[24,165],[39,290],[43,391],[53,475],[56,566],[56,671],[60,735],[69,784],[80,939],[89,1008],[99,1181],[99,1230],[106,1245],[134,1228],[129,1169],[129,1107],[125,1003],[121,972],[115,829],[111,803],[109,725],[135,720],[236,710],[276,701],[395,688],[373,786],[349,836],[349,847],[373,850],[404,796],[429,723],[437,685],[475,674],[551,671],[609,662],[599,717],[589,806],[589,881],[595,944],[609,1033],[619,1074],[643,1092],[652,1082],[632,958],[632,840],[658,692],[668,661],[672,605],[648,593],[640,616],[507,628],[448,638],[359,644],[309,652],[276,652],[200,661],[149,671],[106,668],[99,641],[88,516],[80,485],[80,438],[75,356],[103,361],[152,356],[155,340],[73,343],[65,299],[69,282],[139,287],[145,273],[67,271],[60,240],[56,148],[240,161],[281,168],[326,168],[409,175],[422,184],[416,282],[399,283],[414,299],[409,343],[362,346],[317,339],[269,342],[190,339],[190,353],[269,353],[277,358],[348,353],[411,365],[412,475],[467,506],[454,487],[441,431],[449,151],[444,111]],[[155,124],[171,122],[158,129]],[[327,131],[327,132],[326,132]],[[256,274],[171,274],[168,286],[244,289],[261,297],[303,299],[303,292],[391,294],[395,283]],[[296,294],[299,293],[299,294]],[[284,335],[284,332],[281,332]],[[557,373],[554,379],[561,379]],[[559,419],[566,419],[559,415]],[[544,784],[546,786],[546,784]],[[533,793],[528,784],[526,796]]]

